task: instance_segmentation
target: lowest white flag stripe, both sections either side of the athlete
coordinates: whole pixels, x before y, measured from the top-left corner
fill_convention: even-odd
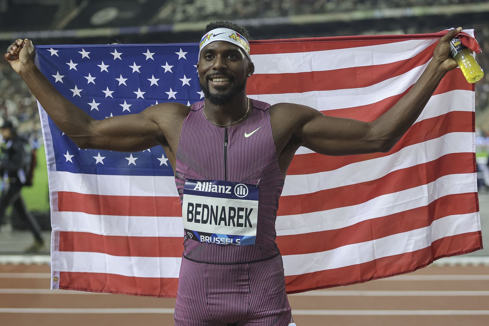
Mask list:
[[[372,241],[354,243],[324,252],[283,256],[285,275],[300,275],[345,267],[382,257],[419,250],[429,246],[431,241],[437,239],[477,231],[475,214],[443,217],[425,228]],[[428,235],[429,242],[426,241],[426,235]],[[417,241],[412,241],[412,239],[417,239]],[[375,251],[372,250],[373,247],[376,248]],[[375,256],[373,255],[374,252]],[[338,260],[335,257],[342,257],[342,259]],[[126,257],[95,252],[60,251],[59,261],[61,272],[109,273],[149,278],[178,278],[181,258]]]

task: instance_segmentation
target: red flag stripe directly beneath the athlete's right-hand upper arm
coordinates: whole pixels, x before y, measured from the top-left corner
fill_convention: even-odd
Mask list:
[[[377,152],[347,156],[328,156],[319,153],[294,155],[287,174],[297,175],[333,171],[352,163],[389,156],[399,152],[406,146],[436,139],[450,132],[473,132],[473,124],[474,112],[448,112],[444,115],[424,119],[414,124],[387,153]]]

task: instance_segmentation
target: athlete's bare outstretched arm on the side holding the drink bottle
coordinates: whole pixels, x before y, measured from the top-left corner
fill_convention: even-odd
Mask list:
[[[327,155],[390,151],[419,117],[445,74],[457,67],[449,55],[448,42],[460,31],[459,27],[440,38],[433,59],[411,90],[372,122],[329,117],[309,107],[289,104],[300,112],[294,134],[301,145]]]

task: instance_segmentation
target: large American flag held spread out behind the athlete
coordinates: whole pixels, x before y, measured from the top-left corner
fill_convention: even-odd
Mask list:
[[[250,42],[256,71],[247,94],[372,121],[409,91],[445,32]],[[203,99],[197,43],[35,49],[54,87],[95,119]],[[474,85],[455,69],[390,152],[297,151],[276,220],[288,293],[407,273],[482,249],[474,101]],[[51,288],[176,296],[183,226],[163,149],[81,150],[39,109]]]

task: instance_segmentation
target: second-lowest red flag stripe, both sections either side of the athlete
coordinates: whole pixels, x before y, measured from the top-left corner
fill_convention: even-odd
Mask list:
[[[279,236],[282,255],[309,254],[344,245],[372,241],[429,226],[434,220],[477,211],[474,193],[441,197],[427,206],[372,218],[337,230]],[[424,216],[425,218],[419,218]],[[297,243],[301,245],[298,246]],[[124,257],[181,257],[182,238],[101,236],[86,232],[60,232],[60,251],[99,252]]]

